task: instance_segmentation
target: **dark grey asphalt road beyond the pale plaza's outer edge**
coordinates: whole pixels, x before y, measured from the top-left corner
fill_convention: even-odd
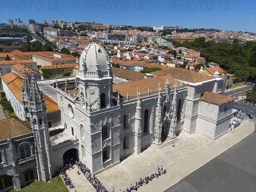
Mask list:
[[[245,113],[253,113],[256,127],[256,106],[235,103]],[[256,130],[195,172],[184,177],[166,192],[256,191]]]

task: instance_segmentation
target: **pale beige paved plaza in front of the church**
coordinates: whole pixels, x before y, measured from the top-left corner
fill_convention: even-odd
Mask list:
[[[172,147],[172,142],[168,139],[162,144],[163,148],[161,145],[151,145],[141,154],[130,155],[118,165],[96,177],[109,192],[119,192],[121,189],[130,187],[131,184],[134,185],[140,178],[150,176],[157,171],[159,165],[166,169],[166,175],[154,178],[146,185],[143,184],[138,191],[164,191],[247,137],[253,130],[253,123],[248,121],[215,141],[197,133],[189,135],[183,132],[174,140],[175,147]],[[67,174],[76,186],[76,188],[69,189],[70,192],[95,191],[84,175],[77,175],[77,170],[77,167],[67,170]]]

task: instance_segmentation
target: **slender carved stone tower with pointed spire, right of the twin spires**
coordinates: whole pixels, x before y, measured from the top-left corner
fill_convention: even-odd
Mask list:
[[[37,161],[38,179],[47,181],[52,179],[49,129],[46,115],[44,94],[39,90],[32,71],[30,82],[29,115],[35,140],[35,156]]]

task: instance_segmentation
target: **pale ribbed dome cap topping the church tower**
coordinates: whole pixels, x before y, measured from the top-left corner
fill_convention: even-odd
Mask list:
[[[107,52],[103,47],[93,42],[82,52],[79,66],[80,70],[84,71],[107,70]]]

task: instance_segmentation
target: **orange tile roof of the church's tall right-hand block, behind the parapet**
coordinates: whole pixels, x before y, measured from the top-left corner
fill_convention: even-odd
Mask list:
[[[187,69],[178,68],[178,67],[170,67],[169,69],[155,71],[150,74],[152,74],[154,76],[166,76],[167,74],[170,74],[170,76],[172,76],[174,79],[178,79],[181,81],[187,81],[187,82],[191,82],[191,83],[198,83],[201,81],[215,79],[214,77],[207,76],[207,75],[204,75],[201,73],[197,73],[193,70],[187,70]]]

